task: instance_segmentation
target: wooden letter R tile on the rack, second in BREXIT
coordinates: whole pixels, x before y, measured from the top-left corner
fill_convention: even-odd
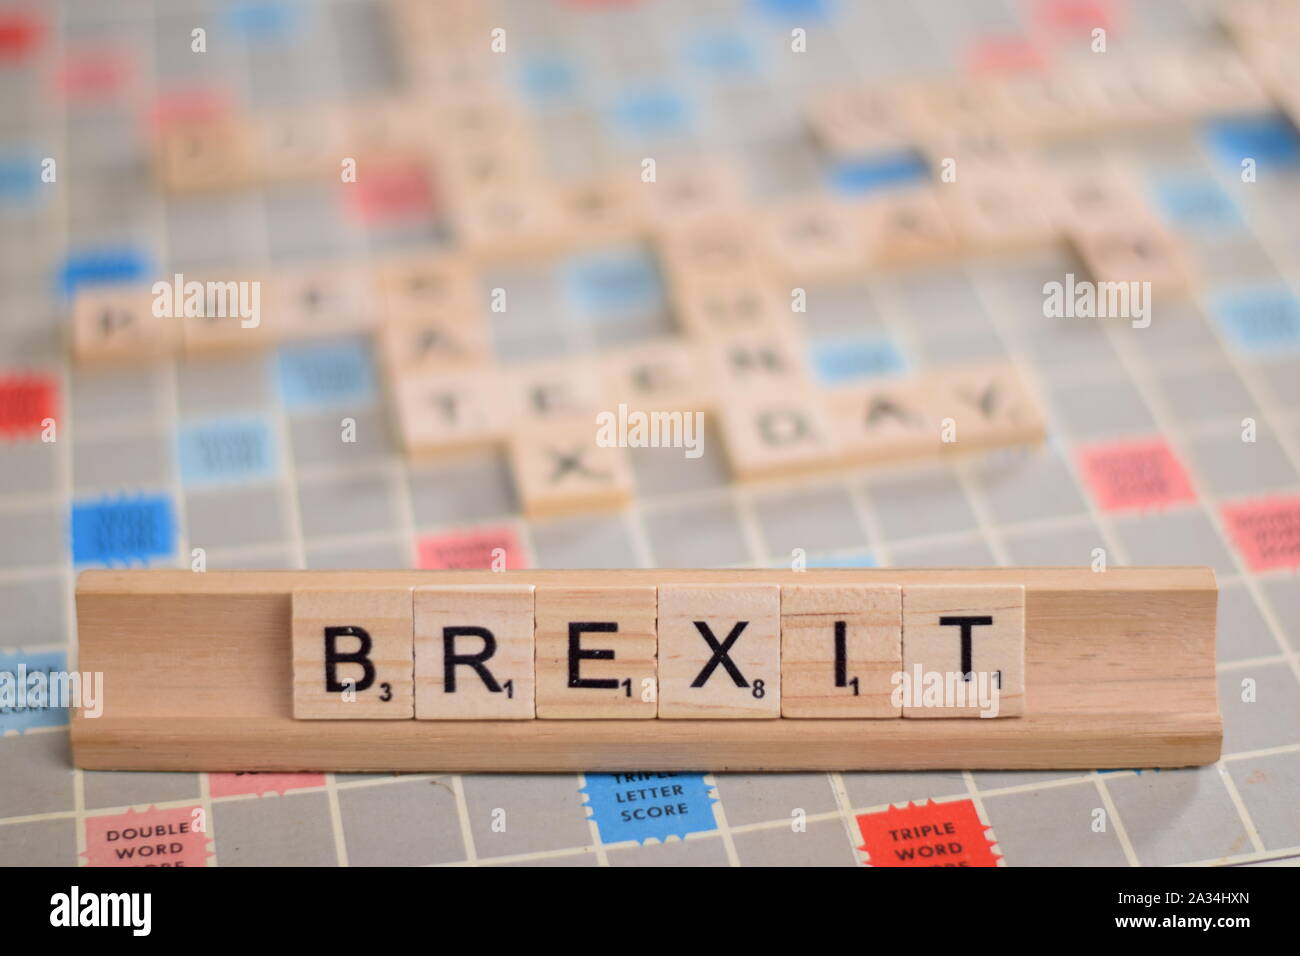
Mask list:
[[[419,721],[536,717],[533,585],[415,589]]]

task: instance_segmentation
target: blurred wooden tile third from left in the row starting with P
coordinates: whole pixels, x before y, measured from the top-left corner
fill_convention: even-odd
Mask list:
[[[270,286],[272,312],[282,338],[364,334],[378,325],[380,302],[368,269],[286,269]]]

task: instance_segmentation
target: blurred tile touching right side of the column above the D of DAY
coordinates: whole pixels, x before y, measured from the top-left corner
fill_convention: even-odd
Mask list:
[[[767,209],[758,222],[768,265],[788,285],[858,276],[867,261],[861,216],[829,196],[803,196]]]

